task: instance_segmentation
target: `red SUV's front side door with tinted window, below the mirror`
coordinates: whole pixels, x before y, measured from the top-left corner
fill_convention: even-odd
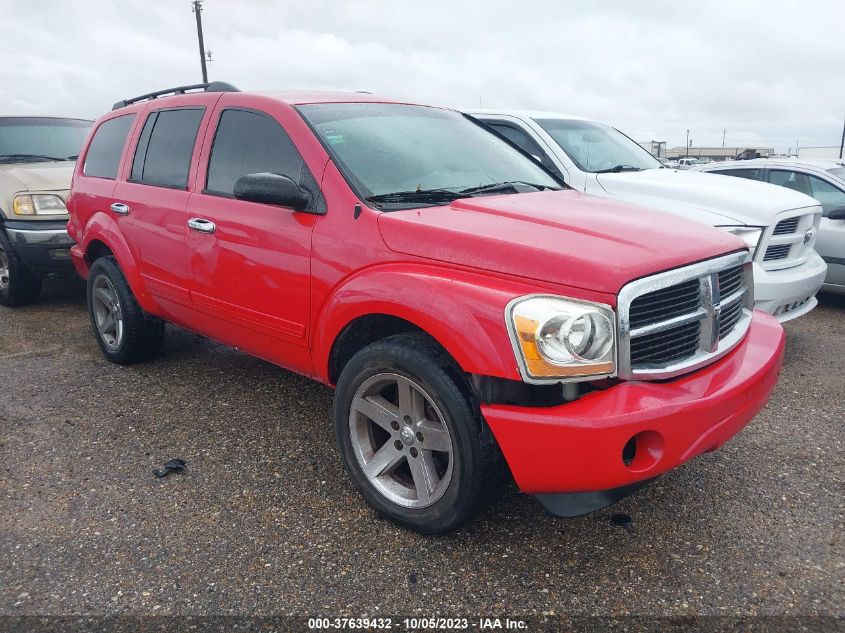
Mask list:
[[[309,190],[312,204],[320,205],[317,183],[268,112],[221,106],[208,137],[199,176],[204,184],[187,214],[195,227],[187,237],[191,300],[204,315],[202,331],[307,372],[311,232],[318,209],[296,212],[237,200],[232,191],[241,176],[276,173]]]

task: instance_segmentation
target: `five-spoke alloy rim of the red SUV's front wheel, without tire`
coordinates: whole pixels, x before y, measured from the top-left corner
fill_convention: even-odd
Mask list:
[[[390,501],[425,508],[448,489],[452,435],[434,400],[414,381],[395,373],[365,380],[352,399],[349,433],[364,476]]]

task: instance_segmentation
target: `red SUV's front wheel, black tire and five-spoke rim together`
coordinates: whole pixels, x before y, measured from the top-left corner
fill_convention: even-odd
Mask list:
[[[423,534],[464,524],[499,479],[461,380],[430,339],[398,334],[358,352],[337,384],[332,415],[353,484],[379,514]]]

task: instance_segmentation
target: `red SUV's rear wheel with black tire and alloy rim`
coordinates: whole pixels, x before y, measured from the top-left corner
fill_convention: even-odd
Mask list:
[[[88,272],[88,315],[103,354],[126,365],[149,358],[164,343],[164,321],[144,312],[114,257]]]

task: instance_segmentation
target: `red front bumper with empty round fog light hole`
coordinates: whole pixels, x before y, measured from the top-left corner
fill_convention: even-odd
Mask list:
[[[783,328],[755,311],[735,350],[691,374],[623,382],[555,407],[487,404],[481,411],[520,489],[575,516],[736,435],[766,404],[783,350]],[[583,511],[556,512],[551,495],[559,493],[587,493],[572,496]]]

